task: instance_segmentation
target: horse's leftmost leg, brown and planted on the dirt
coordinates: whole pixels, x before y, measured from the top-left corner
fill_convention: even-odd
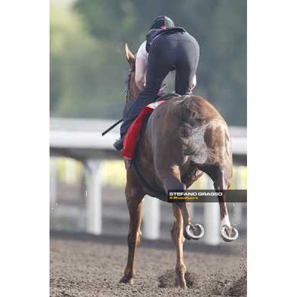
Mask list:
[[[130,223],[128,233],[128,260],[121,282],[133,284],[135,272],[135,253],[142,236],[140,226],[142,221],[144,193],[133,176],[132,170],[127,172],[126,200],[129,209]]]

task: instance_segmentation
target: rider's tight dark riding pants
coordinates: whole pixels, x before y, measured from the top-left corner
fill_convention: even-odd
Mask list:
[[[189,33],[160,35],[150,45],[146,75],[146,87],[132,102],[128,102],[121,126],[123,137],[140,111],[153,102],[158,95],[167,74],[176,70],[175,93],[186,95],[190,92],[199,60],[199,45]]]

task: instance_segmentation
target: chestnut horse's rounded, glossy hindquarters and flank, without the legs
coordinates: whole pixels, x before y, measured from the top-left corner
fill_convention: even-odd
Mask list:
[[[227,124],[209,102],[197,96],[168,99],[148,119],[136,164],[149,185],[165,193],[172,176],[187,180],[189,186],[201,175],[198,168],[206,165],[225,168],[229,180],[232,149]]]

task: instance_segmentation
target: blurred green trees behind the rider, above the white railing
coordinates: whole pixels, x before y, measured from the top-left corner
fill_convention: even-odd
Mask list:
[[[247,2],[229,0],[51,0],[50,116],[121,118],[124,44],[136,52],[160,14],[200,45],[194,93],[246,126]]]

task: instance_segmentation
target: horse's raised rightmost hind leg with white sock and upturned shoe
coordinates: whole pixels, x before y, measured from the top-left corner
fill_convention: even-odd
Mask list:
[[[226,190],[230,185],[231,174],[225,174],[228,170],[222,167],[211,168],[210,177],[216,191],[222,191],[223,195],[218,196],[221,216],[221,237],[226,242],[234,241],[238,238],[238,230],[231,226],[226,204]]]

